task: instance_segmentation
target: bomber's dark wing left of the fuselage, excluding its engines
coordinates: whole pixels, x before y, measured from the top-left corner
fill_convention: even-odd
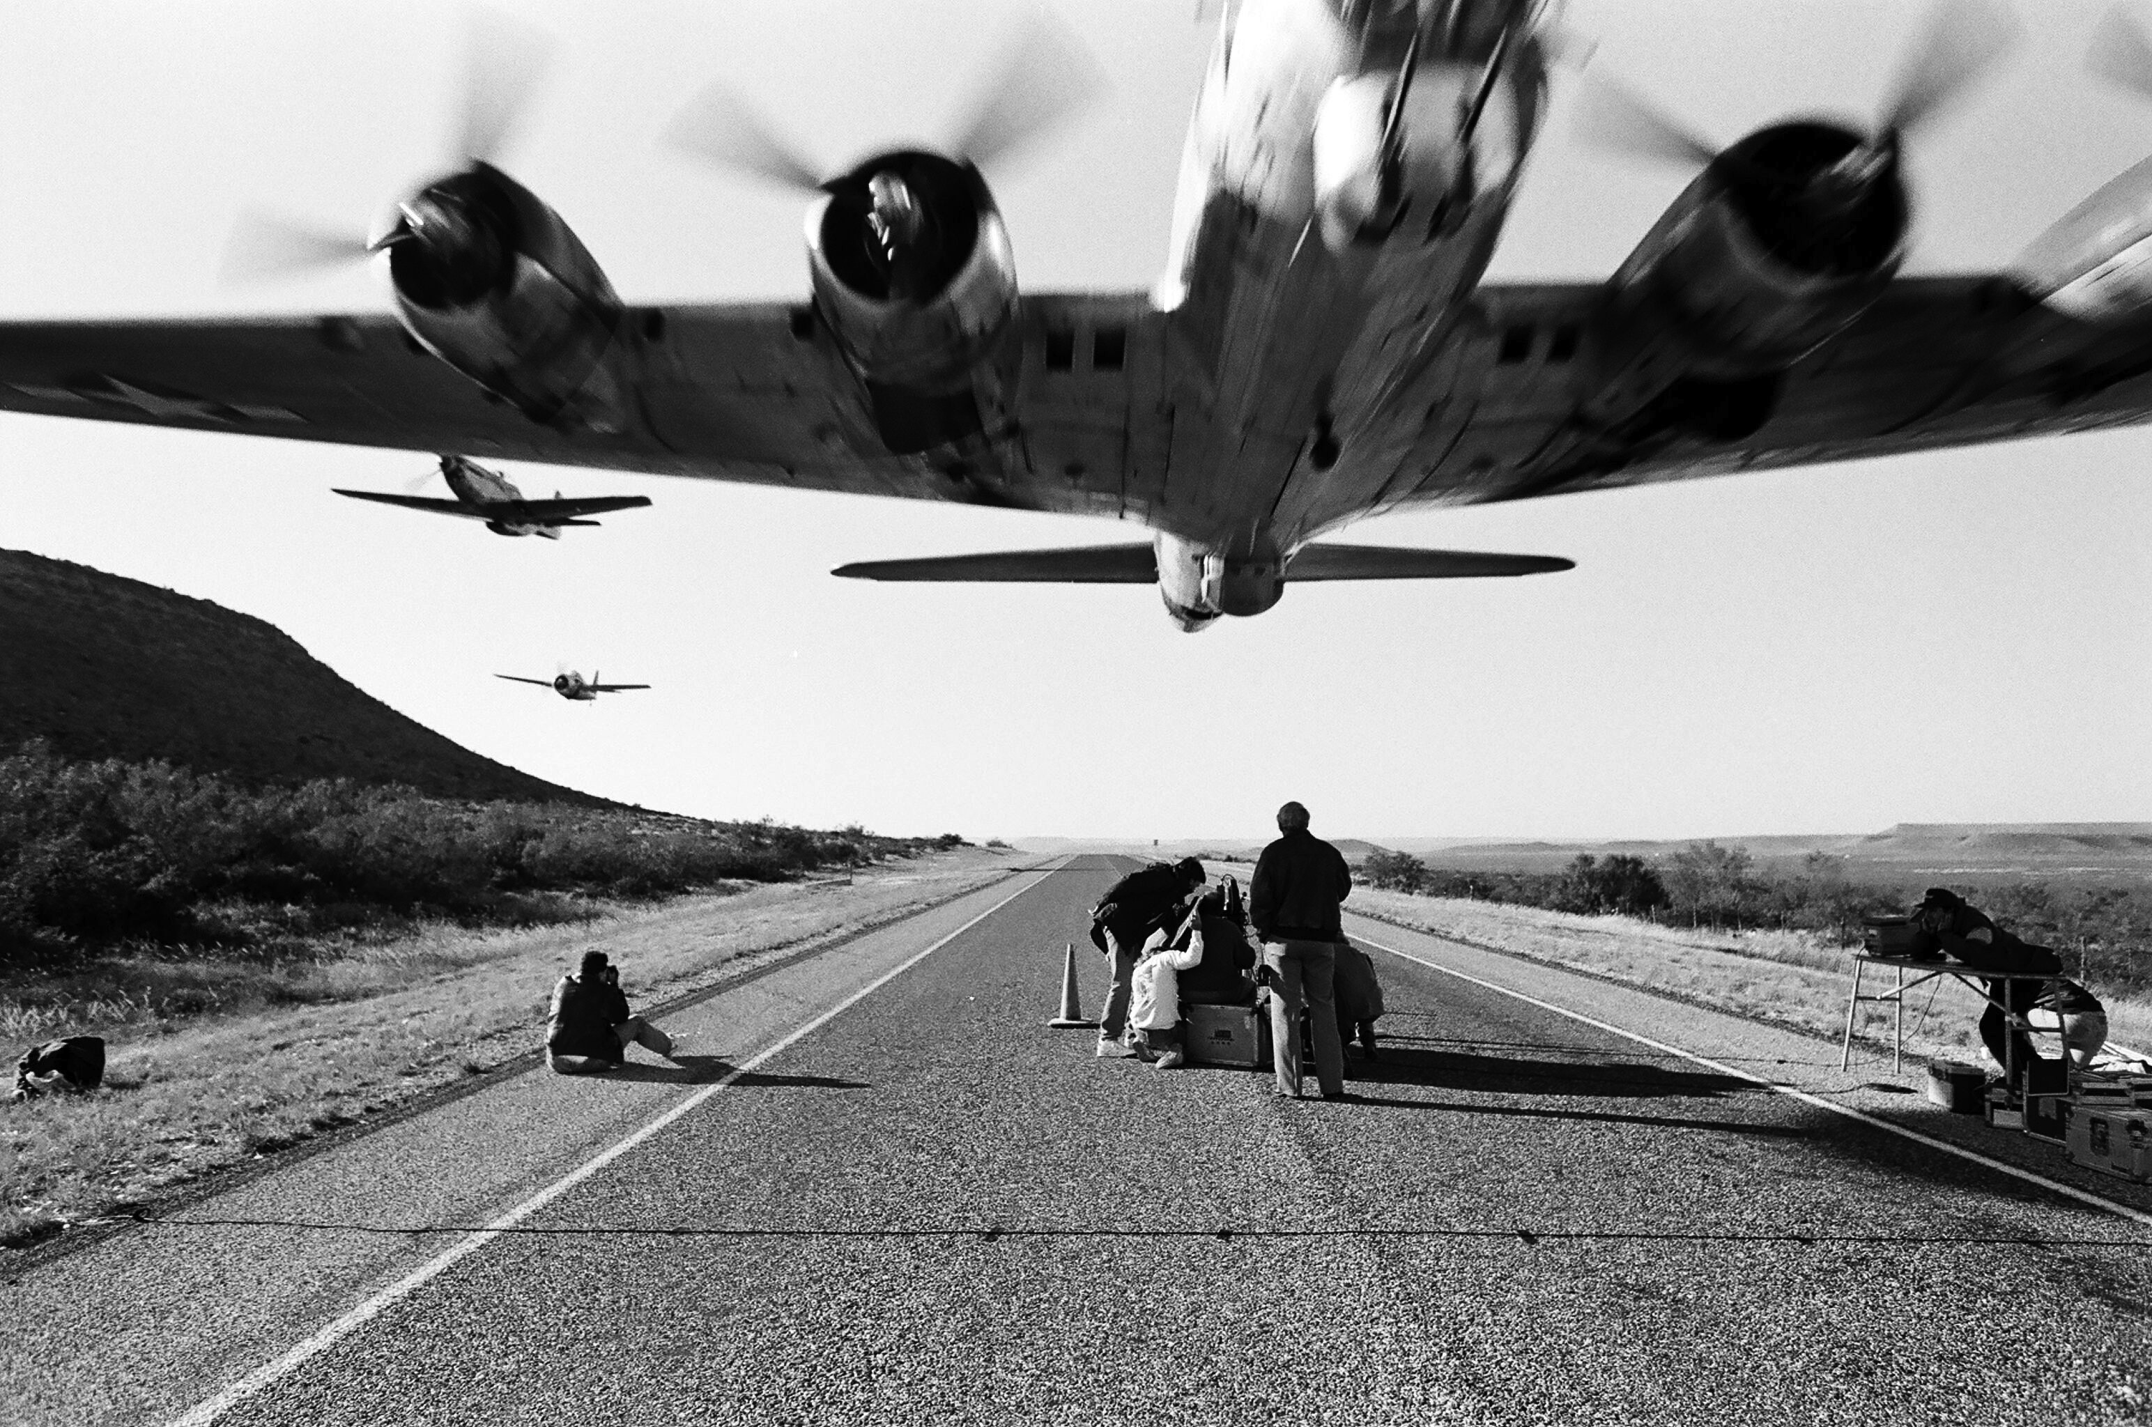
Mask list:
[[[1130,411],[1160,405],[1162,316],[1141,295],[1027,295],[1020,321],[1027,372],[1059,390],[1027,454],[1050,480],[889,454],[835,338],[781,303],[628,308],[611,353],[618,430],[525,418],[385,312],[0,323],[0,411],[1117,512]],[[1147,402],[1132,400],[1141,383]]]

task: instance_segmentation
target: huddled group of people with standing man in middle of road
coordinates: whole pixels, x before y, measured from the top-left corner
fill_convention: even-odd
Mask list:
[[[1115,882],[1091,913],[1091,941],[1113,962],[1098,1055],[1134,1055],[1173,1068],[1186,1046],[1181,1005],[1261,1005],[1272,1022],[1276,1091],[1300,1096],[1300,1012],[1308,1012],[1315,1080],[1345,1096],[1343,1042],[1358,1031],[1375,1055],[1382,988],[1362,951],[1345,945],[1339,902],[1351,891],[1345,859],[1308,835],[1308,811],[1287,803],[1285,833],[1257,861],[1248,904],[1224,878],[1205,889],[1197,859],[1151,863]],[[1248,926],[1263,943],[1261,964]],[[1347,969],[1336,994],[1336,969]],[[1255,973],[1252,977],[1248,973]]]

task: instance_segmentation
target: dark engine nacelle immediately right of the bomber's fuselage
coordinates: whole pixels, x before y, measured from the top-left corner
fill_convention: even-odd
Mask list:
[[[1713,164],[1614,273],[1601,364],[1642,385],[1784,372],[1883,295],[1905,258],[1894,142],[1760,129]]]

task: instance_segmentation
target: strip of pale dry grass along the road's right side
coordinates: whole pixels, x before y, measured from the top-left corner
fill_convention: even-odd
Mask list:
[[[1853,958],[1846,949],[1825,945],[1808,932],[1698,934],[1631,917],[1577,917],[1532,906],[1414,898],[1367,887],[1354,887],[1347,906],[1422,932],[1575,966],[1831,1040],[1838,1040],[1846,1025]],[[1866,990],[1883,986],[1868,981]],[[2094,990],[2098,992],[2096,986]],[[2152,1050],[2152,1003],[2103,999],[2113,1040]],[[1973,1029],[1982,1009],[1980,997],[1952,979],[1915,988],[1907,997],[1905,1012],[1907,1052],[1984,1059],[1986,1050]],[[1855,1031],[1870,1042],[1887,1044],[1889,1012],[1864,1005]]]

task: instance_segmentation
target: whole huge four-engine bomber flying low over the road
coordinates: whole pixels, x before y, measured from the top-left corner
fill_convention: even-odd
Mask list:
[[[792,306],[624,303],[489,161],[516,97],[473,90],[465,168],[374,243],[271,263],[385,252],[394,319],[0,325],[0,407],[1117,517],[1151,538],[839,573],[1156,581],[1184,628],[1291,581],[1556,570],[1315,536],[2152,418],[2152,161],[2010,271],[1898,275],[1902,146],[2008,28],[1939,9],[1874,123],[1724,151],[1601,86],[1595,136],[1698,172],[1582,284],[1481,280],[1547,108],[1532,0],[1224,6],[1151,295],[1018,291],[981,168],[1082,69],[1044,30],[951,153],[824,176],[725,93],[682,116],[684,149],[813,194]],[[2128,19],[2096,54],[2152,93]]]

